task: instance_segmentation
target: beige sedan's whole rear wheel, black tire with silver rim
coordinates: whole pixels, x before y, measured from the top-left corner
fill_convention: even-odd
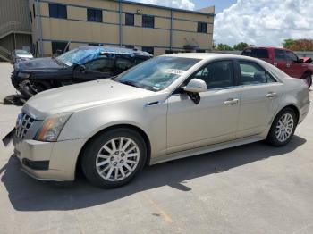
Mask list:
[[[298,118],[291,108],[285,108],[278,113],[268,132],[266,142],[272,146],[285,146],[293,137],[298,124]]]

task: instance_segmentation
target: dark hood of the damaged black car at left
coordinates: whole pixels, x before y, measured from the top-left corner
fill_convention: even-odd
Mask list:
[[[63,67],[55,63],[52,58],[35,58],[16,63],[15,66],[17,71],[57,70],[60,68]]]

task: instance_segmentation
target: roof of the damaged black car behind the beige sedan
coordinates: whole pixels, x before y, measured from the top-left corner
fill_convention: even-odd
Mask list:
[[[137,50],[137,49],[128,49],[123,47],[114,47],[114,46],[80,46],[80,48],[87,49],[87,48],[94,48],[94,49],[101,49],[102,52],[108,54],[130,54],[131,56],[148,56],[153,57],[152,54],[148,54],[147,52]]]

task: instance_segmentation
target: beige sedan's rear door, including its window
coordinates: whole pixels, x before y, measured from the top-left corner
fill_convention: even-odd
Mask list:
[[[236,138],[258,135],[266,130],[278,108],[283,84],[258,63],[238,61],[241,73],[240,118]]]

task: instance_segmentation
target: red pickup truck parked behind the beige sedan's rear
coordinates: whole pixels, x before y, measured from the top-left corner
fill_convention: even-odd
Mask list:
[[[247,47],[241,55],[262,59],[293,78],[305,79],[309,87],[312,85],[313,64],[310,58],[299,58],[288,49],[259,46]]]

